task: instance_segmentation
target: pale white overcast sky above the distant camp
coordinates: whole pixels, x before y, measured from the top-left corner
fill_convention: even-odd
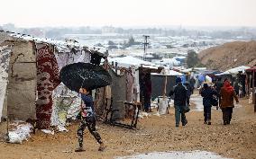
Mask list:
[[[1,0],[0,24],[256,26],[256,0]]]

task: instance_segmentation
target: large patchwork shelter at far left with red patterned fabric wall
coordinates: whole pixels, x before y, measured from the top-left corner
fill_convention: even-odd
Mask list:
[[[59,85],[59,68],[74,62],[99,65],[105,56],[77,43],[4,33],[0,36],[5,37],[0,40],[0,117],[37,119],[38,128],[49,128],[50,122],[59,124],[59,110],[66,109],[65,119],[67,111],[72,116],[72,108],[63,103],[76,103],[78,108],[80,100],[78,93]]]

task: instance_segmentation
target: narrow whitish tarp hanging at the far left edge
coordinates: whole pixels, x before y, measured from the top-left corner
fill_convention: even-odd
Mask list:
[[[0,47],[0,122],[3,116],[6,86],[8,83],[10,52],[11,48],[8,46]]]

